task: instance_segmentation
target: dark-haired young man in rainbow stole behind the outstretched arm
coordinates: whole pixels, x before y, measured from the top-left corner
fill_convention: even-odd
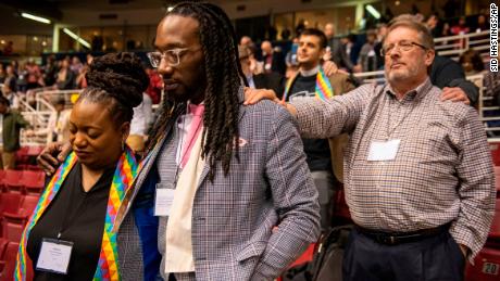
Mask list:
[[[325,55],[327,39],[323,31],[305,28],[299,37],[297,61],[298,73],[288,78],[284,97],[275,91],[283,101],[302,99],[326,100],[343,94],[354,85],[345,73],[330,74],[325,69],[322,58]],[[330,64],[330,61],[325,64]],[[314,186],[318,193],[321,207],[321,227],[326,232],[332,226],[333,196],[339,188],[342,177],[343,148],[347,136],[328,140],[326,138],[302,138],[304,153]]]

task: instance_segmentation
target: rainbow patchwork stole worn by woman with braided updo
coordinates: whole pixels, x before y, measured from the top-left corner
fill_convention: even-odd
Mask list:
[[[49,184],[38,201],[32,217],[29,218],[23,235],[21,237],[20,252],[17,254],[17,263],[15,265],[14,280],[26,280],[26,244],[29,232],[37,223],[43,212],[49,206],[50,202],[58,194],[59,189],[63,184],[67,174],[73,169],[77,162],[76,154],[73,152],[66,157],[64,163],[58,168],[55,175],[50,180]],[[117,268],[117,247],[116,232],[112,231],[113,223],[116,218],[116,212],[123,202],[125,193],[132,187],[133,180],[137,174],[137,161],[134,157],[132,150],[126,146],[125,152],[118,159],[118,164],[114,171],[113,181],[110,188],[110,196],[108,199],[108,208],[104,221],[104,231],[102,234],[101,252],[99,263],[97,265],[93,280],[121,280]]]

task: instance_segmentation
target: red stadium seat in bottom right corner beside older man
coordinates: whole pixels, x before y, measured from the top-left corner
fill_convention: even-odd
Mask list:
[[[500,280],[500,250],[485,247],[474,261],[474,266],[467,263],[465,281]]]

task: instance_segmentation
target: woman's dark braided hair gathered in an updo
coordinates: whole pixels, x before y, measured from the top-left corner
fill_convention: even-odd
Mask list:
[[[116,126],[130,122],[134,107],[142,102],[149,77],[139,58],[133,53],[109,53],[96,58],[86,74],[88,88],[77,103],[105,103]]]

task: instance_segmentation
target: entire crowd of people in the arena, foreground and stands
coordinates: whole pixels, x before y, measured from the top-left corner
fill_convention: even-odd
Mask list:
[[[463,280],[495,213],[465,77],[487,72],[474,50],[458,63],[436,54],[437,21],[400,15],[358,49],[333,24],[304,26],[285,54],[238,41],[217,5],[182,2],[148,64],[123,52],[8,65],[3,165],[5,136],[15,151],[29,126],[17,92],[83,89],[30,132],[47,136],[50,180],[15,280],[275,280],[337,223],[340,189],[354,225],[343,280]],[[385,82],[352,75],[376,69]]]

